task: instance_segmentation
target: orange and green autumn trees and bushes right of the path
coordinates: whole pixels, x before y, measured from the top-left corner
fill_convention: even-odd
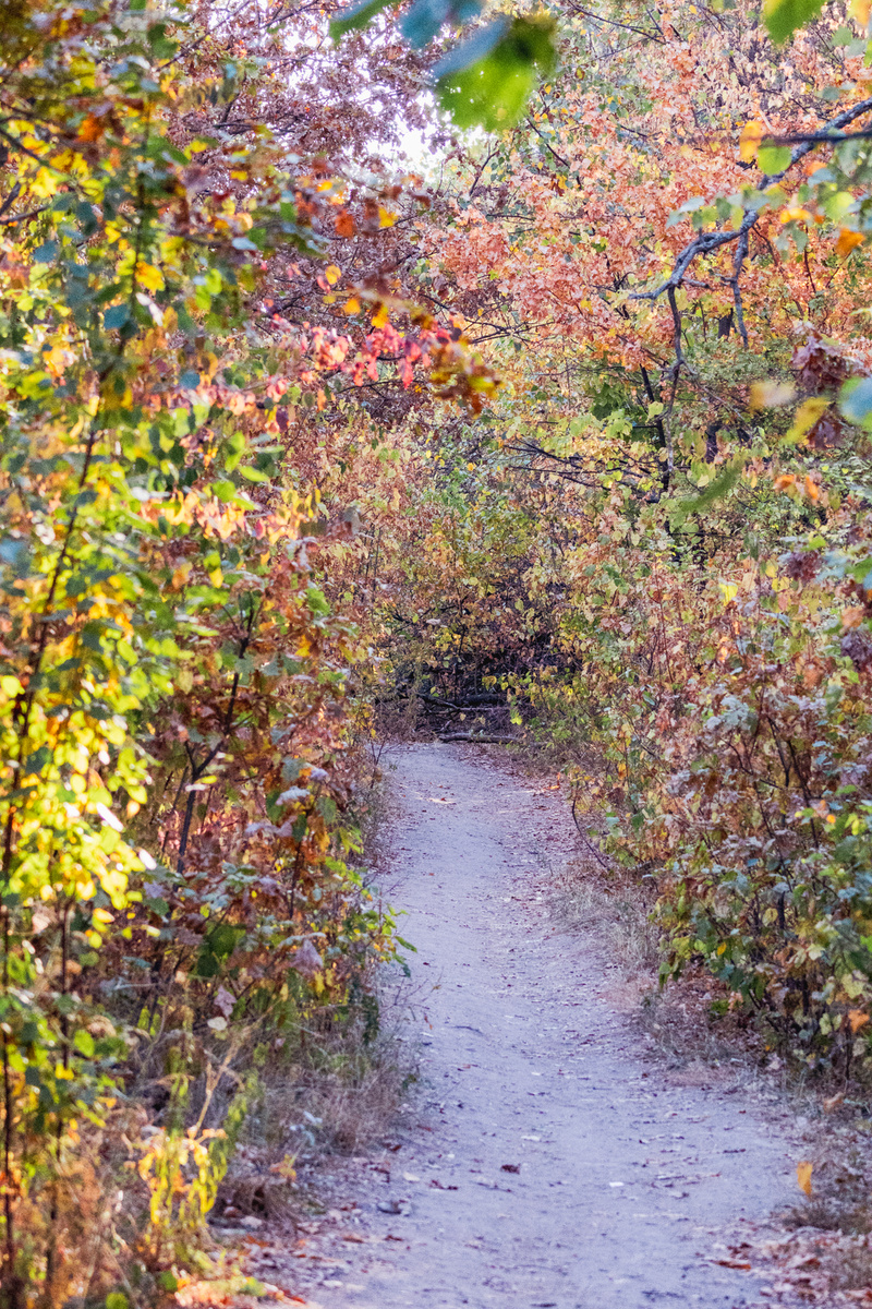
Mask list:
[[[784,50],[740,5],[563,10],[561,76],[420,224],[503,387],[418,446],[388,619],[425,694],[502,687],[557,751],[656,888],[664,979],[705,962],[841,1075],[872,999],[867,20]]]

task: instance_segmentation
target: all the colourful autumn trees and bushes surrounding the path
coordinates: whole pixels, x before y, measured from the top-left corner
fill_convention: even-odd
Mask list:
[[[169,1302],[276,1069],[370,1073],[400,719],[868,1076],[868,22],[3,7],[9,1309]]]

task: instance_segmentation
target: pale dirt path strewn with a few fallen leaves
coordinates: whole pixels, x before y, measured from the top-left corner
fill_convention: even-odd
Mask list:
[[[463,749],[396,758],[422,1084],[401,1148],[353,1174],[345,1241],[309,1293],[324,1309],[760,1302],[752,1274],[714,1262],[716,1233],[794,1198],[790,1144],[741,1094],[645,1060],[608,967],[528,903],[563,806]]]

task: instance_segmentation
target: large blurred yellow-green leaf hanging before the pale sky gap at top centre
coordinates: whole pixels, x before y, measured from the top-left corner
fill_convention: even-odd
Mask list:
[[[553,34],[553,18],[495,18],[433,69],[442,107],[459,127],[512,127],[554,67]]]

